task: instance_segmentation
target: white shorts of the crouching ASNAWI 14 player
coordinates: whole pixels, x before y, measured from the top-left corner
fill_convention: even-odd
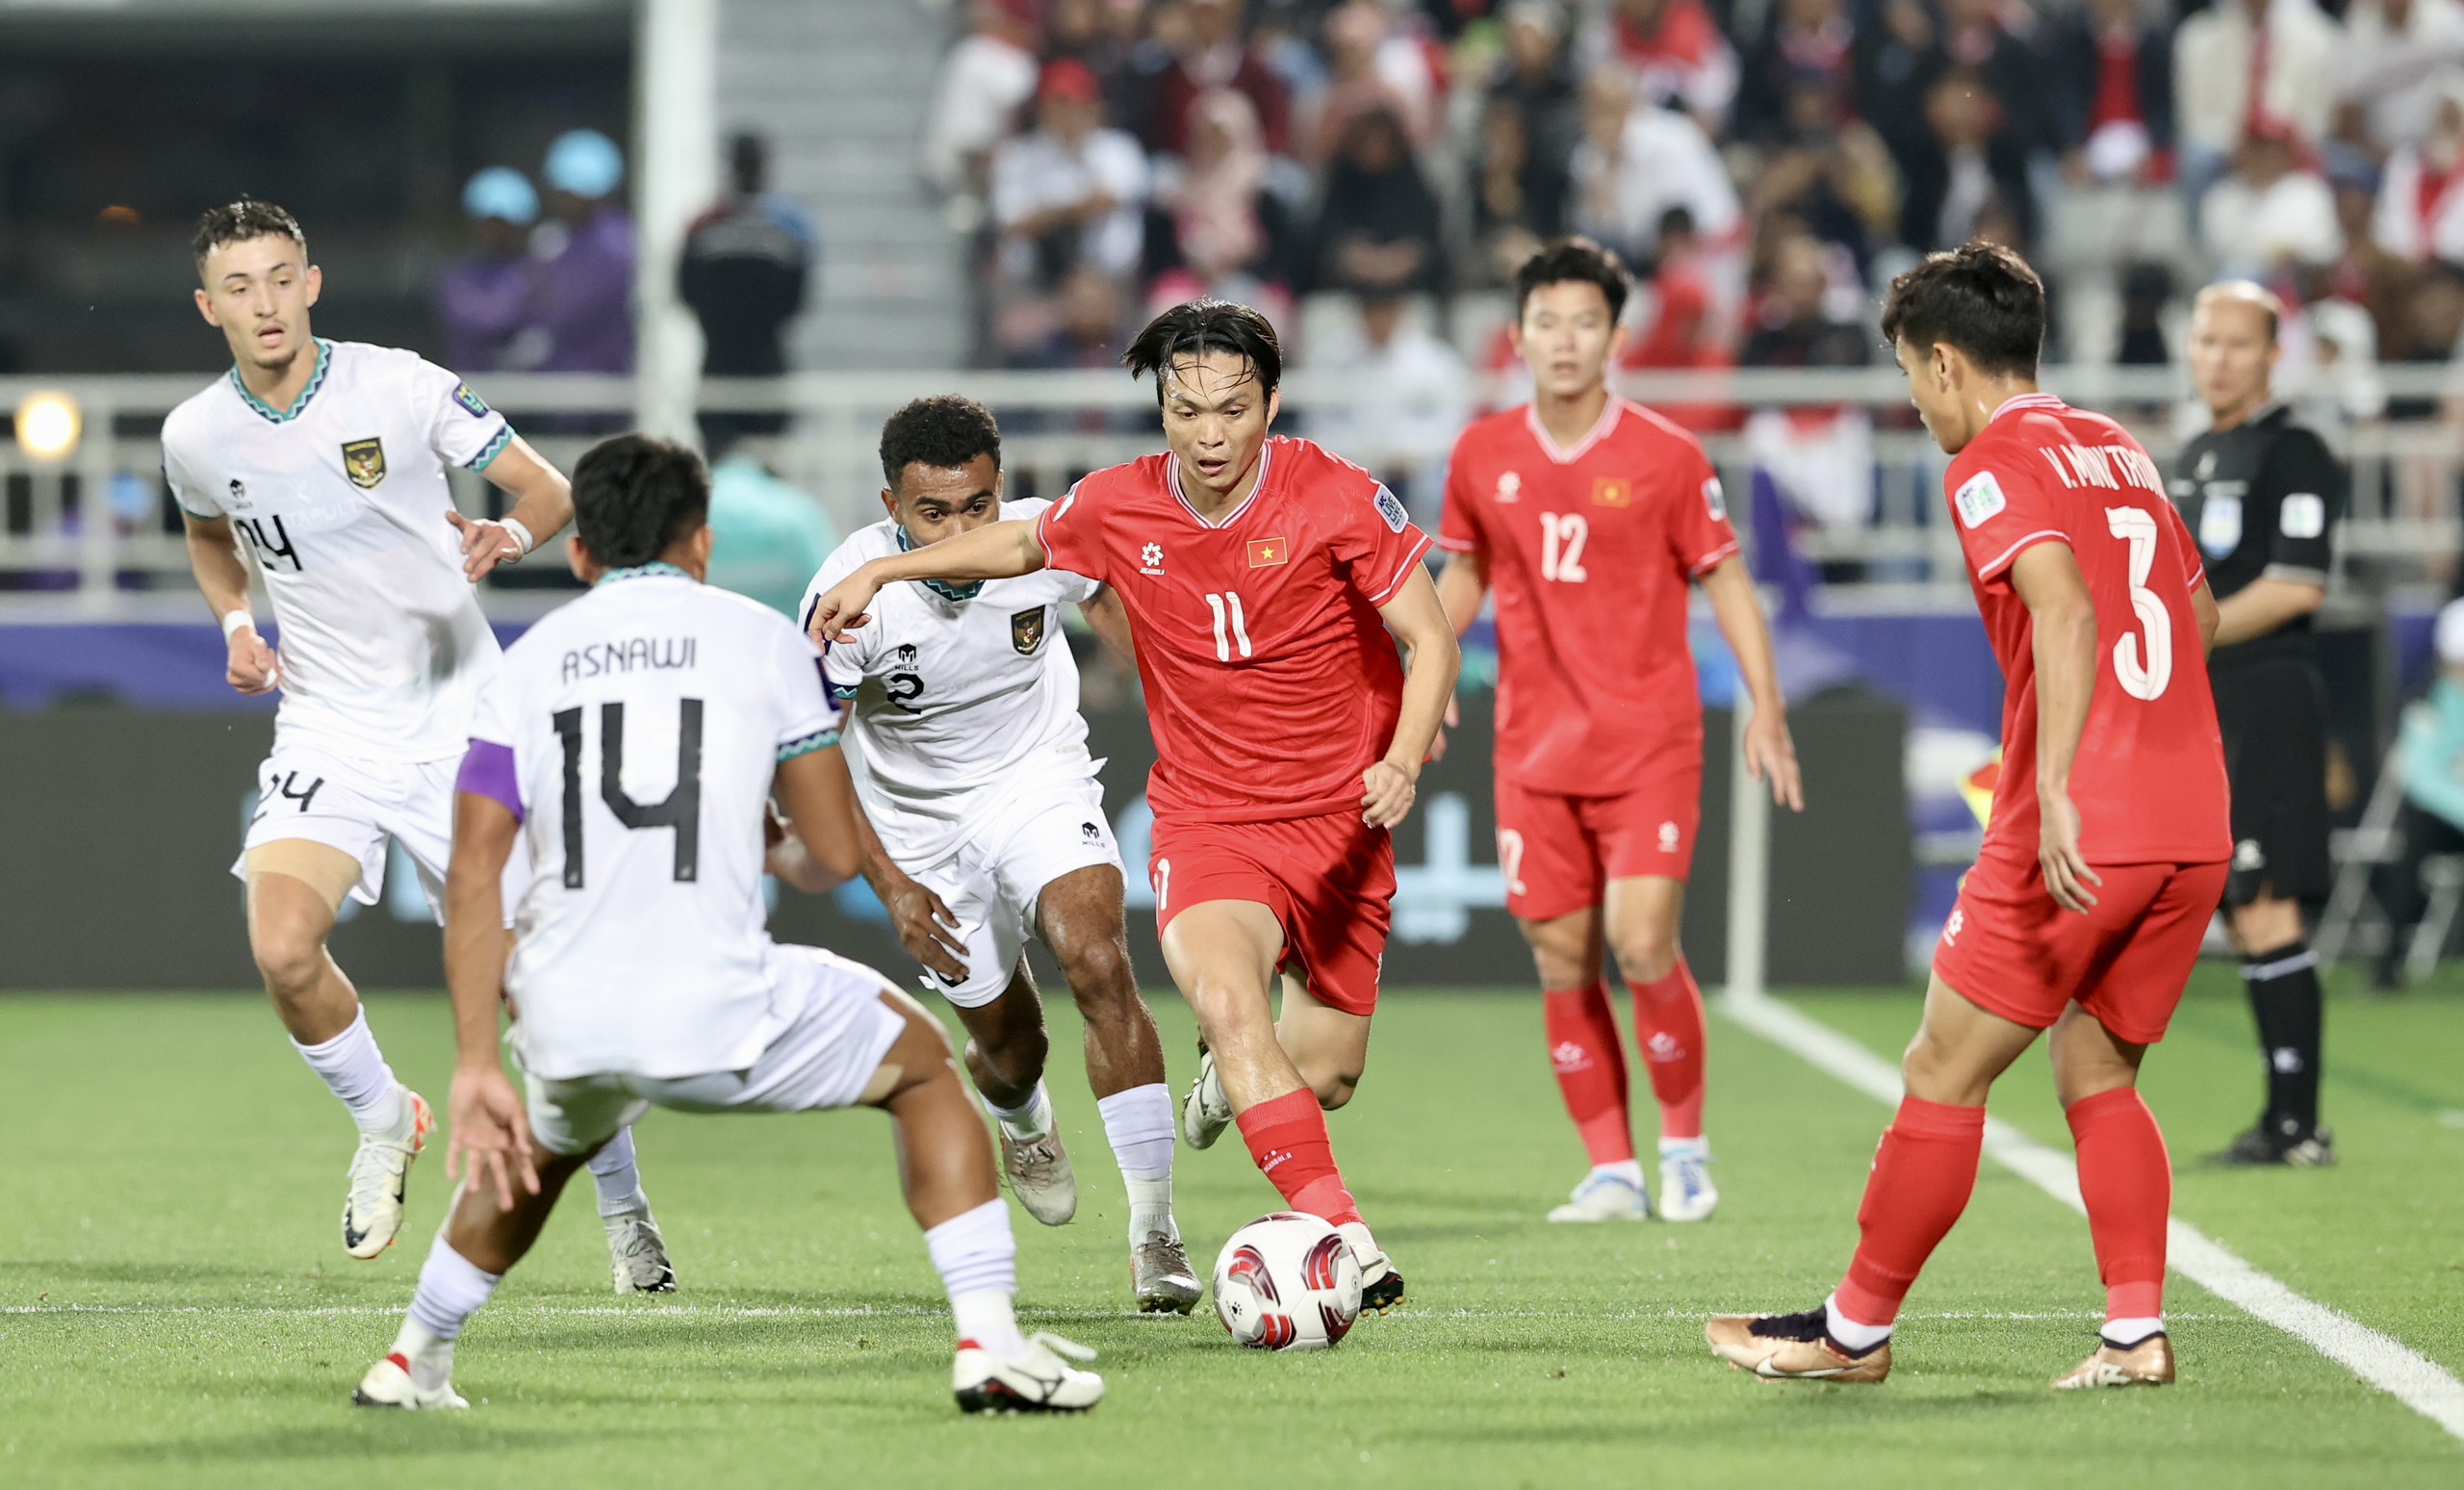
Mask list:
[[[744,1071],[710,1076],[527,1076],[530,1130],[554,1155],[589,1153],[650,1108],[680,1113],[816,1113],[855,1106],[907,1017],[882,1002],[890,980],[818,946],[781,946],[793,1010]],[[801,1007],[798,1007],[801,1005]],[[520,1039],[513,1042],[520,1054]]]

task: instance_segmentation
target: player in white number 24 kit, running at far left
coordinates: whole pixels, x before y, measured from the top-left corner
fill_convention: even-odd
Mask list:
[[[342,1246],[372,1258],[402,1229],[407,1170],[434,1118],[394,1079],[325,938],[345,894],[377,904],[387,835],[439,901],[453,766],[498,665],[473,584],[562,530],[574,502],[564,475],[444,367],[310,335],[323,273],[288,212],[217,207],[195,249],[197,313],[232,345],[232,372],[163,421],[163,475],[229,640],[232,687],[283,692],[232,874],[249,887],[249,951],[274,1012],[360,1126]],[[513,512],[456,512],[446,463],[483,473]],[[251,569],[274,596],[278,650],[249,613]],[[517,894],[508,879],[508,914]],[[616,1291],[673,1291],[631,1135],[594,1175]]]

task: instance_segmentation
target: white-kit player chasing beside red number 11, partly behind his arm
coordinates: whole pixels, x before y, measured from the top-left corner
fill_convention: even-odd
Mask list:
[[[1000,500],[1000,429],[973,399],[917,399],[892,414],[882,478],[890,517],[823,562],[808,606],[867,559],[1050,507]],[[1087,1022],[1087,1084],[1129,1187],[1131,1293],[1143,1313],[1185,1315],[1200,1288],[1173,1222],[1173,1096],[1129,968],[1121,850],[1060,635],[1067,603],[1129,653],[1111,591],[1042,569],[971,586],[894,584],[875,626],[830,643],[825,665],[850,707],[862,874],[966,1025],[966,1069],[1000,1126],[1010,1192],[1047,1226],[1077,1214],[1045,1091],[1042,1000],[1020,956],[1032,931]]]

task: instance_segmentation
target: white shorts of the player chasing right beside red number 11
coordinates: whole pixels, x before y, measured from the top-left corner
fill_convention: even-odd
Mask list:
[[[1121,845],[1104,818],[1104,786],[1092,776],[1018,783],[956,852],[909,869],[958,916],[966,943],[966,983],[949,988],[939,973],[926,973],[924,988],[961,1010],[1000,997],[1035,933],[1037,896],[1062,874],[1094,864],[1121,867]]]

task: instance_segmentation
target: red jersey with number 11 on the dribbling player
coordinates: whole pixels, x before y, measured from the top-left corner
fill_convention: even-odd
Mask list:
[[[1173,456],[1096,470],[1045,510],[1055,569],[1121,594],[1161,815],[1266,823],[1360,810],[1395,744],[1402,662],[1377,616],[1429,549],[1375,475],[1271,438],[1249,500],[1207,522]]]

